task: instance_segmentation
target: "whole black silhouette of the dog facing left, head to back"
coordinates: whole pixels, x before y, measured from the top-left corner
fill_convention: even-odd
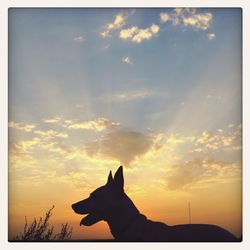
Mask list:
[[[108,223],[117,241],[170,241],[170,242],[229,242],[238,239],[225,229],[207,224],[168,226],[148,220],[140,214],[123,190],[122,166],[114,178],[110,171],[106,185],[97,188],[87,199],[72,205],[78,214],[88,214],[80,226],[91,226],[98,221]]]

